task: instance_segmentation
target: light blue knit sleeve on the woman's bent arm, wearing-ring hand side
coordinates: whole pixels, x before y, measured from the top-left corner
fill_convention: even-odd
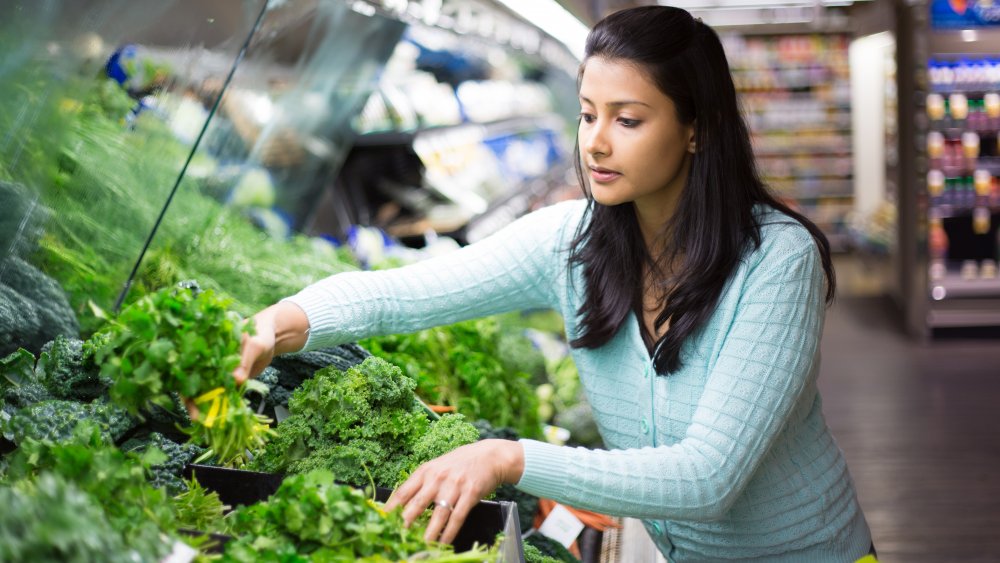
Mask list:
[[[802,238],[749,273],[683,439],[587,450],[522,440],[518,488],[617,516],[711,521],[740,496],[807,387],[822,333],[825,284]]]

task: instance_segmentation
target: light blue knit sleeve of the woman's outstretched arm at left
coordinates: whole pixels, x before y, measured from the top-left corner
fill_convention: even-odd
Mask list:
[[[455,252],[392,270],[335,274],[306,287],[285,299],[309,320],[304,350],[554,306],[555,254],[579,209],[577,202],[556,204]]]

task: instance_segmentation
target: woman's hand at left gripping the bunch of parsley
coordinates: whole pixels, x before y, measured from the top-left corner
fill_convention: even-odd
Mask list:
[[[279,354],[301,350],[309,339],[309,319],[294,303],[282,301],[253,316],[255,334],[244,334],[237,383],[257,377]]]

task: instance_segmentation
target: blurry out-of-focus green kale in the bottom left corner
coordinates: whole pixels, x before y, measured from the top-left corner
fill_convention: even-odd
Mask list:
[[[133,561],[97,499],[58,475],[0,486],[0,561]]]

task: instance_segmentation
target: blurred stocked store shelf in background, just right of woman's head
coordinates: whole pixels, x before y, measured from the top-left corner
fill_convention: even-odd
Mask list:
[[[724,38],[765,182],[797,205],[835,248],[853,208],[845,35]]]

